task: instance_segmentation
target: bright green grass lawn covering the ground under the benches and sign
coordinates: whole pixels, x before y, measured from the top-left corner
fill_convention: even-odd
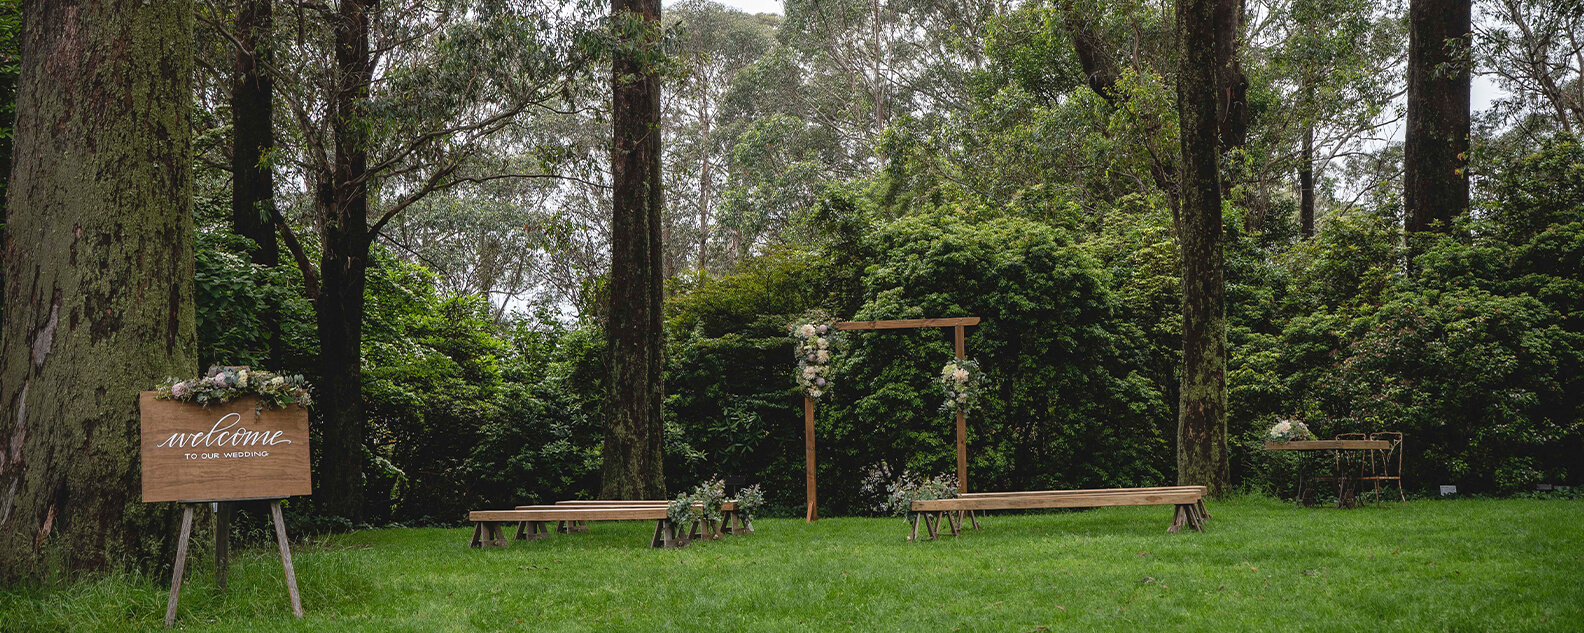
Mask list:
[[[1205,533],[1171,508],[992,516],[908,543],[901,519],[759,521],[757,533],[648,549],[651,524],[467,549],[467,530],[390,529],[299,546],[307,619],[272,551],[231,587],[212,562],[179,628],[215,631],[602,630],[1584,630],[1584,500],[1410,502],[1351,511],[1210,503]],[[158,628],[141,578],[0,590],[0,630]]]

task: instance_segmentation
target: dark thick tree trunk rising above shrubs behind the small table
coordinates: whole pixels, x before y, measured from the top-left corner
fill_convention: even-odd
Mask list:
[[[1408,3],[1408,128],[1402,147],[1408,231],[1468,212],[1470,0]]]

